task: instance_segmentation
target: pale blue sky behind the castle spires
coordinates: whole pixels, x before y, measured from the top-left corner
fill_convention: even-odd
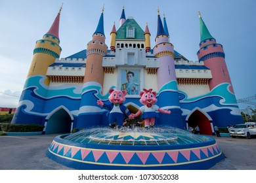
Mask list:
[[[236,99],[256,94],[255,0],[0,0],[0,107],[16,107],[33,58],[35,41],[53,24],[59,8],[60,58],[86,49],[104,6],[104,33],[110,48],[110,31],[119,27],[121,10],[151,33],[155,45],[157,10],[167,21],[170,41],[177,52],[198,61],[200,27],[198,10],[217,43],[222,44]],[[256,100],[254,101],[256,103]],[[238,104],[240,109],[255,108]]]

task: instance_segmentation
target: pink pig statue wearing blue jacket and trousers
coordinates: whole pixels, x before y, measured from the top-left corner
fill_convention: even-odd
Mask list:
[[[110,89],[109,93],[110,96],[108,97],[108,99],[111,102],[110,105],[104,104],[101,100],[98,100],[97,104],[105,108],[106,110],[110,110],[110,113],[108,114],[108,121],[110,123],[110,127],[114,128],[116,126],[116,122],[117,127],[121,127],[123,125],[123,114],[125,113],[129,117],[129,119],[132,119],[134,114],[131,114],[128,108],[123,105],[126,95],[126,92],[124,90],[120,91]]]

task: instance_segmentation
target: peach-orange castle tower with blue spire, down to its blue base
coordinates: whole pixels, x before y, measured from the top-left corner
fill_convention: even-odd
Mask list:
[[[78,128],[100,125],[101,122],[100,115],[95,114],[95,112],[92,114],[91,112],[92,107],[96,105],[96,101],[98,100],[91,91],[96,90],[96,92],[101,94],[104,81],[102,58],[106,55],[108,46],[105,44],[103,12],[104,8],[102,9],[96,31],[93,33],[93,40],[87,44],[87,61],[85,78],[83,80],[83,92],[81,95],[77,124],[75,125],[75,127]]]

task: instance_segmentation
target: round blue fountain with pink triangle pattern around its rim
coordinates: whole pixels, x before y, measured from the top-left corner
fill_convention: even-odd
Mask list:
[[[108,127],[59,135],[47,156],[74,169],[209,169],[224,156],[215,139],[175,127]]]

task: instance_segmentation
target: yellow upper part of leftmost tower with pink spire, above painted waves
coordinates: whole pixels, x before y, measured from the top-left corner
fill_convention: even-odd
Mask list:
[[[60,39],[58,38],[58,28],[60,23],[60,12],[62,7],[53,22],[49,31],[43,35],[43,39],[36,42],[33,50],[33,59],[28,71],[28,77],[35,75],[46,76],[49,65],[53,64],[56,58],[60,57],[61,48],[59,46]],[[50,79],[47,76],[45,84],[49,85]]]

